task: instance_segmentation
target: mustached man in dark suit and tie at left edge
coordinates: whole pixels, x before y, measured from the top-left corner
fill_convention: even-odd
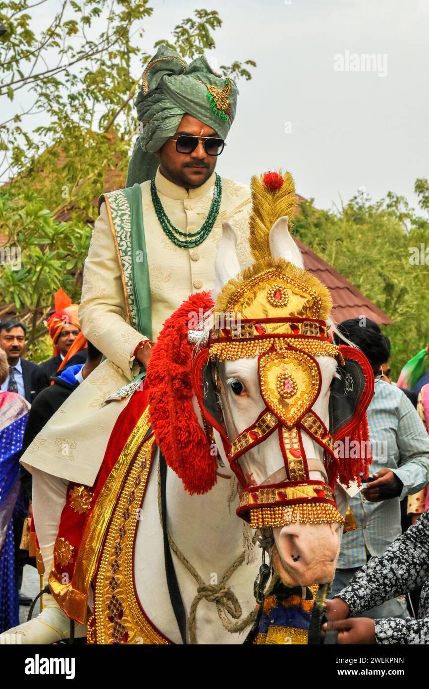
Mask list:
[[[49,378],[38,364],[22,358],[26,334],[27,328],[19,320],[0,322],[0,347],[6,351],[9,364],[9,375],[1,389],[17,392],[31,403],[41,390],[48,387]]]

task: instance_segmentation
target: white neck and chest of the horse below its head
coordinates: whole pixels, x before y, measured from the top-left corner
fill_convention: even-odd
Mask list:
[[[158,511],[158,452],[149,476],[141,520],[136,535],[134,577],[136,592],[145,613],[171,641],[181,637],[169,599],[163,551],[163,531]],[[167,526],[180,553],[195,568],[204,584],[220,583],[224,574],[243,551],[242,520],[236,515],[237,499],[227,502],[229,480],[218,482],[205,495],[189,495],[176,474],[167,472]],[[176,555],[172,555],[187,615],[199,586]],[[229,579],[231,590],[242,606],[242,617],[255,605],[253,582],[258,573],[260,553],[255,562],[242,564]],[[200,601],[196,613],[198,644],[242,644],[244,633],[224,630],[216,605]]]

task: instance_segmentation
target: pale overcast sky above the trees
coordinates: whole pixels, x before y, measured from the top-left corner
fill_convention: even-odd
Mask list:
[[[321,208],[359,187],[374,199],[391,190],[415,205],[415,179],[429,176],[428,0],[150,4],[146,50],[194,9],[216,9],[223,25],[209,61],[215,68],[233,59],[258,63],[253,79],[239,83],[221,174],[248,183],[284,167]],[[350,71],[356,54],[375,54],[375,70]]]

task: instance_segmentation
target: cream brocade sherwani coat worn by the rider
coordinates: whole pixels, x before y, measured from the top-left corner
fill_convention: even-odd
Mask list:
[[[156,189],[175,227],[182,232],[196,232],[209,211],[214,182],[213,174],[204,185],[187,192],[169,182],[158,170]],[[222,203],[211,234],[199,247],[188,250],[176,247],[163,232],[151,202],[150,183],[144,182],[140,187],[155,340],[165,319],[182,301],[195,292],[213,289],[214,260],[223,220],[229,220],[238,234],[241,267],[251,264],[247,243],[251,201],[249,187],[222,178]],[[138,275],[133,279],[138,280]],[[30,471],[34,466],[65,480],[91,486],[112,428],[129,401],[125,398],[105,404],[105,398],[138,373],[133,353],[142,339],[127,317],[123,279],[105,203],[101,205],[85,260],[79,318],[85,337],[107,360],[64,402],[21,461]]]

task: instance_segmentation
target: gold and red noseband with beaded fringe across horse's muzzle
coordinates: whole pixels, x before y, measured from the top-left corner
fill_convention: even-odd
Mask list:
[[[284,482],[244,489],[237,514],[252,528],[285,526],[293,522],[344,524],[331,486],[320,481]]]

